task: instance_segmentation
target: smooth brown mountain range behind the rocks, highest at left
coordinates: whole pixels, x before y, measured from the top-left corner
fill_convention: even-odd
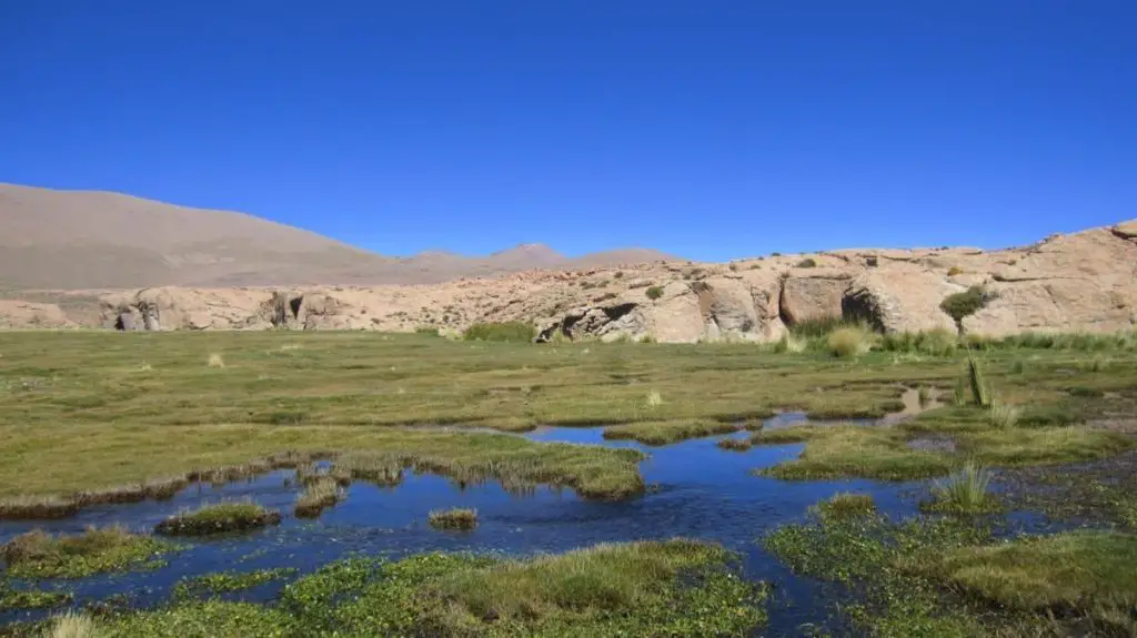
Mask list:
[[[428,284],[669,259],[645,249],[567,258],[540,244],[395,259],[241,212],[0,184],[0,287],[8,288]]]

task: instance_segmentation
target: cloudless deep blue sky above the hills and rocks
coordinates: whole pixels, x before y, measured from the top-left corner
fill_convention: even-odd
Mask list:
[[[1134,0],[0,0],[0,182],[389,254],[1137,217]]]

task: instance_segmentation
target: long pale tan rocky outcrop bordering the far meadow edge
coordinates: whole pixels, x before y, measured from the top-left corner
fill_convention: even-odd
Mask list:
[[[805,266],[812,259],[814,267]],[[106,294],[123,330],[459,330],[532,321],[541,338],[772,342],[843,316],[883,331],[954,329],[940,303],[969,286],[993,299],[966,331],[1113,331],[1137,325],[1137,221],[1021,249],[846,250],[731,265],[654,263],[532,271],[423,286],[158,287]],[[65,327],[58,307],[0,302],[0,326]]]

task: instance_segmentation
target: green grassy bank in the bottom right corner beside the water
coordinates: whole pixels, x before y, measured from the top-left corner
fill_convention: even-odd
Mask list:
[[[996,542],[962,519],[858,512],[779,528],[765,547],[796,573],[844,586],[850,633],[888,638],[1130,636],[1137,537],[1078,531]],[[1088,633],[1086,632],[1088,631]]]

